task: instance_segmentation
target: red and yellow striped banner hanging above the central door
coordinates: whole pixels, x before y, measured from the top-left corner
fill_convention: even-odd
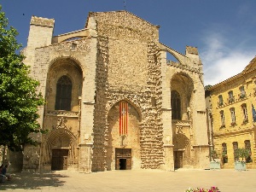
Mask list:
[[[128,134],[128,102],[119,102],[119,135]]]

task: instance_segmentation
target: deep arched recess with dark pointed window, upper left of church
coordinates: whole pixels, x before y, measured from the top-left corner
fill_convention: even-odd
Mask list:
[[[69,57],[58,57],[49,63],[45,98],[47,110],[79,110],[83,90],[83,72],[79,63]]]

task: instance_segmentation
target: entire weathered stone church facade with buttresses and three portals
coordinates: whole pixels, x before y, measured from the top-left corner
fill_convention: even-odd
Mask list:
[[[89,13],[84,29],[53,37],[32,16],[24,61],[46,104],[48,132],[26,145],[23,171],[206,168],[201,59],[159,42],[159,26],[127,11]],[[168,61],[166,55],[177,61]]]

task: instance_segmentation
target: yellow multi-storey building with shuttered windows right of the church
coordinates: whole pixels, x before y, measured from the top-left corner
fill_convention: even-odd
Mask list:
[[[234,168],[236,148],[247,148],[247,168],[256,168],[256,57],[210,91],[214,149],[223,168]],[[211,131],[210,131],[211,132]]]

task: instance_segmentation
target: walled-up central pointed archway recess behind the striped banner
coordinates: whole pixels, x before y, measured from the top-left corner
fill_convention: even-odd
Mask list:
[[[121,135],[119,132],[120,102],[126,102],[128,105],[127,134],[124,135]],[[123,160],[122,163],[125,162],[125,165],[123,165],[122,168],[139,169],[141,166],[139,125],[141,116],[137,112],[137,108],[135,108],[131,102],[120,102],[115,103],[108,111],[107,170],[119,169],[116,164],[118,160]],[[123,151],[123,149],[125,150],[125,156],[116,154]],[[127,154],[127,151],[130,153]]]

